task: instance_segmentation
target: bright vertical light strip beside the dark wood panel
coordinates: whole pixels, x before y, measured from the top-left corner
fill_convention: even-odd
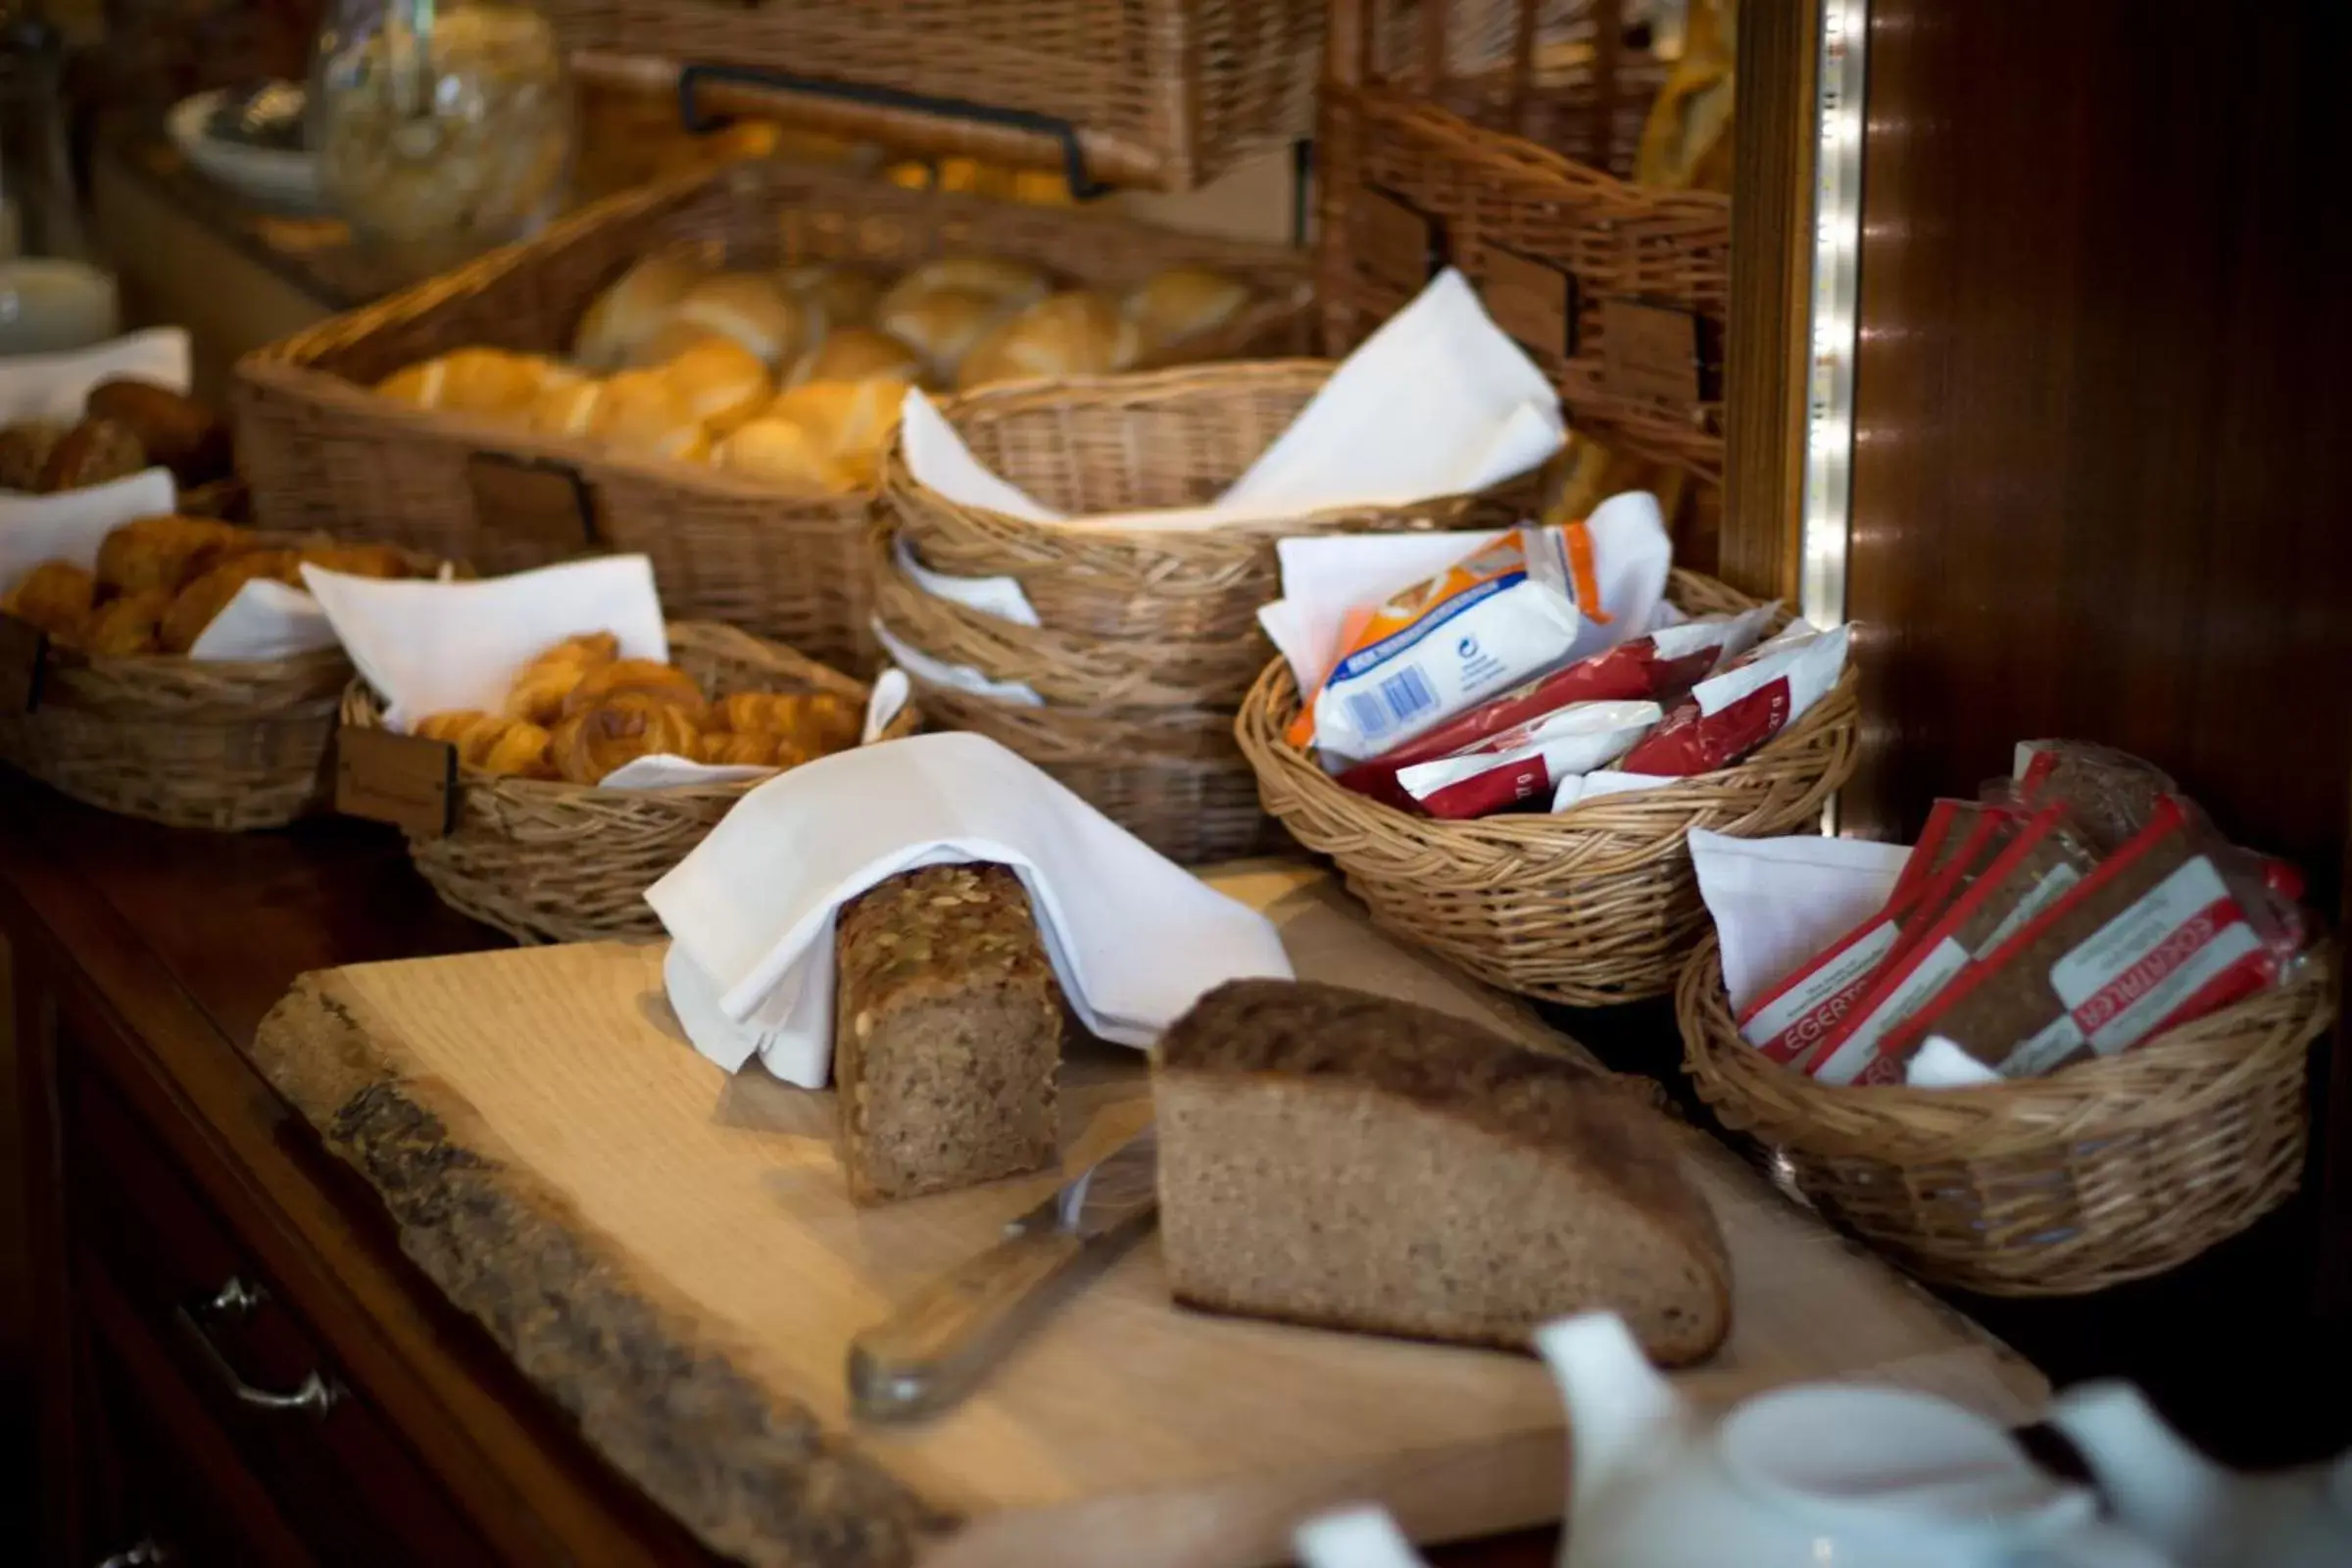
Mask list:
[[[1853,339],[1863,242],[1863,61],[1870,2],[1820,0],[1813,103],[1813,369],[1804,409],[1799,611],[1813,625],[1846,618],[1853,498]],[[1820,813],[1837,832],[1837,799]]]

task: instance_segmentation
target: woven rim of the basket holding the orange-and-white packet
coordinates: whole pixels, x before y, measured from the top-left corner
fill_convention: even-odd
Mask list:
[[[1724,592],[1736,592],[1717,578],[1682,567],[1675,569],[1675,578],[1698,581]],[[1851,708],[1856,705],[1858,679],[1860,677],[1849,661],[1846,670],[1837,679],[1837,686],[1832,686],[1828,696],[1813,703],[1795,724],[1726,769],[1691,773],[1689,778],[1677,778],[1670,785],[1656,785],[1651,790],[1604,795],[1599,799],[1578,802],[1576,806],[1557,813],[1508,811],[1501,816],[1446,820],[1411,816],[1385,802],[1371,799],[1369,795],[1357,795],[1331,778],[1331,773],[1324,773],[1322,764],[1282,738],[1282,731],[1289,729],[1291,717],[1298,712],[1298,684],[1291,677],[1289,661],[1284,658],[1272,658],[1249,689],[1249,696],[1242,698],[1242,715],[1235,724],[1235,733],[1242,741],[1242,750],[1249,752],[1251,764],[1258,766],[1261,773],[1279,769],[1291,783],[1322,795],[1327,799],[1327,809],[1334,809],[1341,816],[1355,813],[1364,820],[1378,823],[1381,827],[1418,837],[1435,849],[1470,844],[1489,851],[1524,851],[1557,846],[1564,837],[1585,832],[1606,818],[1639,816],[1658,818],[1663,825],[1663,820],[1675,816],[1700,813],[1698,802],[1712,785],[1736,780],[1743,769],[1757,762],[1797,752],[1820,731],[1849,722]],[[1265,724],[1263,733],[1258,731],[1258,724]]]

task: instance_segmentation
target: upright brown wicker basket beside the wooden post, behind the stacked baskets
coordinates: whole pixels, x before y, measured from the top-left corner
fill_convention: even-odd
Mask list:
[[[1719,376],[1700,376],[1696,402],[1611,381],[1611,303],[1696,315],[1710,362],[1731,306],[1731,200],[1628,183],[1663,71],[1613,45],[1621,14],[1621,0],[1334,2],[1317,132],[1324,353],[1395,315],[1435,263],[1489,303],[1498,287],[1524,296],[1534,275],[1555,313],[1566,296],[1571,324],[1503,324],[1569,423],[1722,482]]]

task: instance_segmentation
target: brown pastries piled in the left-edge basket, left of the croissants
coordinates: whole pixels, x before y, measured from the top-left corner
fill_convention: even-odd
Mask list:
[[[186,654],[240,588],[252,581],[299,588],[303,564],[414,576],[390,545],[294,548],[207,517],[134,517],[99,545],[96,571],[42,562],[0,595],[0,611],[82,654]]]

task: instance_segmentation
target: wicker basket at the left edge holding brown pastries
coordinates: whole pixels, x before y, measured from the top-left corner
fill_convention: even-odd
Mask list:
[[[343,649],[212,661],[49,644],[40,705],[0,717],[0,762],[82,804],[167,827],[285,827],[327,806],[327,748],[346,684]]]

